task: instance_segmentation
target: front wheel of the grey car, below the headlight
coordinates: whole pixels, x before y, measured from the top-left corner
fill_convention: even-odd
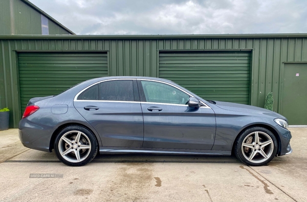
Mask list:
[[[271,131],[254,127],[244,131],[236,140],[234,154],[250,166],[269,163],[277,153],[277,140]]]

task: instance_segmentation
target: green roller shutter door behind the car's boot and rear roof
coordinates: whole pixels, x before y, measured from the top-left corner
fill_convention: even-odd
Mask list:
[[[107,77],[106,53],[19,53],[21,110],[32,97],[48,96],[85,80]]]

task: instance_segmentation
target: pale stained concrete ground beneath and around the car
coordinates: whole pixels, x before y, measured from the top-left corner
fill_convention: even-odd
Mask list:
[[[0,131],[0,201],[307,201],[306,128],[290,129],[293,153],[268,166],[234,157],[99,155],[95,160],[204,160],[229,163],[90,163],[69,167],[54,153],[24,147],[16,129]],[[15,162],[5,162],[14,160]],[[63,174],[30,178],[31,173]]]

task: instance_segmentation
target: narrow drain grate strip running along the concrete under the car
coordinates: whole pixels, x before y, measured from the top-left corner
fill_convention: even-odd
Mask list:
[[[7,160],[5,163],[60,163],[59,160]],[[93,160],[91,163],[241,163],[240,161],[194,160]]]

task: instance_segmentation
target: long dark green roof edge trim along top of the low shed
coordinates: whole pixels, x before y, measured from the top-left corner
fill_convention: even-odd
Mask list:
[[[25,0],[23,0],[25,1]],[[0,35],[0,39],[202,39],[202,38],[307,38],[307,33],[289,34],[182,34],[182,35]]]

